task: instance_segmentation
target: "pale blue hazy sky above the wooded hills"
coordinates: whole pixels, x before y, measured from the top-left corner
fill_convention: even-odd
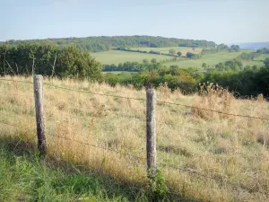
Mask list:
[[[151,35],[269,41],[269,0],[0,0],[0,40]]]

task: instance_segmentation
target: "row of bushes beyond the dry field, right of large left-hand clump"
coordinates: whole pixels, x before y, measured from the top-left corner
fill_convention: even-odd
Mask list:
[[[135,63],[136,66],[143,64]],[[141,88],[149,84],[158,87],[164,83],[173,91],[180,88],[182,92],[193,93],[199,89],[199,83],[218,83],[236,96],[257,96],[263,93],[269,96],[269,57],[265,66],[243,66],[238,59],[218,63],[213,69],[202,73],[197,68],[181,69],[178,66],[163,66],[154,68],[141,67],[138,73],[106,74],[104,80],[112,86],[116,83],[133,84]],[[125,64],[122,64],[125,66]]]

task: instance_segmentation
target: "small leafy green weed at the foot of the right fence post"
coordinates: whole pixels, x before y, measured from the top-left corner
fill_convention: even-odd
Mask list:
[[[163,201],[169,189],[161,171],[148,171],[148,198],[149,201]]]

